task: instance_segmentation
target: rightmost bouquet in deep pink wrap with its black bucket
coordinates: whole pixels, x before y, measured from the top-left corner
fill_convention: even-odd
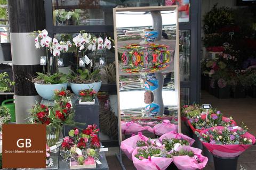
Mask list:
[[[196,132],[203,145],[212,153],[215,169],[236,169],[237,159],[255,143],[246,126],[216,126]]]

